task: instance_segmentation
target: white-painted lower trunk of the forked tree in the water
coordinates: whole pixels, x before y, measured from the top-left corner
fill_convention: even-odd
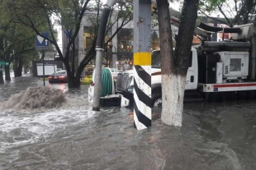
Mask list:
[[[183,125],[183,99],[186,76],[162,75],[162,121],[172,126]]]

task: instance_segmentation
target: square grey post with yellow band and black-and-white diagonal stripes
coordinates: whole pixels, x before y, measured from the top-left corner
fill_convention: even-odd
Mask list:
[[[151,126],[151,0],[134,0],[134,121]]]

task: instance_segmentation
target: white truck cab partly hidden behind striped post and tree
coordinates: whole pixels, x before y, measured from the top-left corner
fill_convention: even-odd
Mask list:
[[[161,55],[156,50],[151,55],[151,99],[152,107],[160,106],[162,103],[162,87],[161,87]],[[198,82],[198,63],[197,49],[192,48],[189,56],[189,65],[187,69],[187,80],[185,90],[197,90]],[[119,73],[117,76],[116,90],[127,98],[133,97],[133,71]]]

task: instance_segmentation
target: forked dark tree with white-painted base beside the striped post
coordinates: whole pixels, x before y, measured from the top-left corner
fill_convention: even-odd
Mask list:
[[[182,126],[183,98],[199,0],[184,0],[173,51],[168,0],[157,0],[162,65],[162,121]]]

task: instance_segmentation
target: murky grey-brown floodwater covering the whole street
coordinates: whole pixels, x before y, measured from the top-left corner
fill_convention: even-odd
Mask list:
[[[0,85],[0,102],[43,81]],[[256,101],[185,103],[183,126],[166,126],[159,108],[149,129],[133,127],[132,108],[93,112],[88,85],[64,91],[60,108],[0,112],[0,169],[256,169]]]

